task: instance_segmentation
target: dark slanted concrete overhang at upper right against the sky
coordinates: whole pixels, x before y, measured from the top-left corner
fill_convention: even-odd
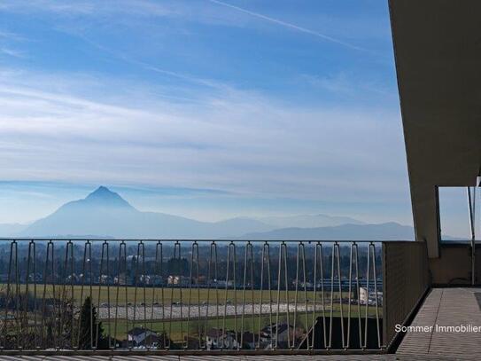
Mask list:
[[[438,257],[437,186],[481,167],[481,1],[389,4],[415,234]]]

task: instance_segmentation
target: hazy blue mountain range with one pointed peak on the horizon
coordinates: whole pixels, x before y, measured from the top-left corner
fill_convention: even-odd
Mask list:
[[[100,186],[85,199],[70,201],[32,224],[0,224],[2,237],[98,237],[136,239],[413,239],[412,227],[363,224],[342,216],[237,217],[200,222],[143,212]]]

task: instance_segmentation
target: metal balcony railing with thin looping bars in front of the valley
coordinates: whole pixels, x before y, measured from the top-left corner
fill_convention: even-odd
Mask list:
[[[0,352],[383,352],[384,253],[370,241],[3,239]]]

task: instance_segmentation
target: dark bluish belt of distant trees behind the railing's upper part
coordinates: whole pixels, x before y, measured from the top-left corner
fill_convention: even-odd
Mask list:
[[[307,246],[306,246],[307,247]],[[70,282],[69,278],[72,277],[72,273],[74,273],[75,278],[73,279],[74,283],[81,283],[85,282],[88,284],[90,282],[89,276],[92,276],[91,281],[95,284],[99,282],[100,275],[105,275],[106,279],[105,282],[113,282],[119,272],[121,273],[122,277],[126,279],[128,283],[134,284],[137,283],[138,285],[143,285],[145,283],[150,284],[157,284],[160,283],[167,283],[167,277],[169,275],[175,276],[183,276],[183,277],[190,277],[190,272],[192,273],[195,281],[199,281],[199,283],[207,284],[209,281],[212,283],[213,279],[215,278],[214,269],[217,271],[216,279],[225,279],[227,274],[227,268],[229,263],[229,279],[234,278],[234,266],[235,266],[235,276],[237,282],[242,282],[244,278],[244,251],[245,247],[237,247],[237,258],[236,262],[233,261],[232,255],[230,255],[230,259],[228,260],[228,247],[227,246],[218,246],[217,252],[217,263],[211,264],[210,257],[211,257],[211,248],[208,246],[198,247],[198,259],[197,255],[193,257],[193,262],[191,255],[188,253],[190,252],[190,247],[184,246],[184,251],[182,252],[182,257],[174,257],[172,249],[173,247],[164,247],[162,261],[159,261],[159,258],[156,259],[156,252],[158,248],[154,246],[145,246],[144,254],[146,255],[145,258],[137,258],[137,251],[135,247],[128,249],[128,256],[127,259],[125,258],[118,258],[118,247],[117,251],[115,251],[115,247],[111,247],[110,250],[110,257],[109,262],[107,263],[104,259],[102,262],[101,259],[101,247],[96,246],[92,247],[92,257],[91,259],[88,258],[88,261],[84,263],[83,259],[83,249],[80,246],[74,246],[74,260],[71,263],[70,255],[67,257],[66,262],[66,247],[65,244],[60,247],[55,248],[53,262],[51,260],[51,255],[49,258],[49,263],[46,264],[47,255],[46,250],[42,249],[39,245],[39,249],[35,255],[35,263],[36,263],[36,273],[33,273],[33,259],[28,259],[27,257],[27,249],[25,247],[19,247],[19,255],[15,255],[15,262],[10,263],[10,248],[2,247],[0,248],[0,273],[2,274],[3,278],[9,278],[12,283],[25,283],[27,280],[30,283],[42,283],[45,281],[49,283],[63,283],[63,282]],[[314,281],[314,268],[317,271],[317,278],[320,277],[321,273],[321,264],[319,259],[314,260],[314,249],[306,248],[306,279],[307,281]],[[275,282],[277,278],[277,267],[278,267],[278,247],[271,247],[270,251],[270,279],[272,282]],[[142,255],[143,253],[141,253]],[[149,256],[147,256],[149,255]],[[159,253],[157,253],[159,255]],[[260,286],[260,270],[262,268],[262,255],[261,255],[261,247],[253,247],[252,252],[253,260],[251,261],[250,255],[247,258],[247,269],[248,269],[248,279],[250,280],[251,274],[254,286]],[[297,248],[296,247],[288,247],[288,259],[287,259],[287,278],[288,282],[291,285],[292,281],[296,279],[297,274],[297,264],[299,263],[299,271],[303,272],[302,264],[303,259],[302,257],[297,256]],[[361,277],[365,277],[367,273],[367,264],[368,264],[368,249],[367,247],[359,248],[359,274]],[[213,259],[214,261],[215,259]],[[337,257],[335,257],[335,263],[337,265]],[[372,264],[372,260],[371,264]],[[350,257],[350,248],[349,247],[340,247],[340,258],[339,264],[341,268],[341,275],[348,277],[349,269],[351,267],[351,263],[355,261]],[[17,264],[18,263],[18,264]],[[101,263],[103,264],[102,270],[100,270]],[[264,260],[264,284],[267,284],[268,275],[268,262]],[[330,271],[331,271],[331,263],[332,263],[332,249],[331,247],[326,247],[324,249],[324,255],[322,258],[322,273],[323,277],[326,279],[330,278]],[[381,273],[381,257],[380,252],[376,253],[376,270],[377,270],[377,277],[380,277]],[[251,272],[252,266],[252,272]],[[315,267],[314,267],[315,266]],[[73,267],[73,268],[71,268]],[[336,266],[337,267],[337,266]],[[210,279],[207,278],[209,274],[210,268]],[[108,271],[107,271],[108,269]],[[29,274],[27,275],[27,270],[29,270]],[[284,271],[283,271],[284,272]],[[337,269],[336,269],[337,273]],[[302,274],[302,273],[301,273]],[[10,276],[8,276],[10,275]],[[84,275],[84,277],[80,277]],[[148,275],[149,278],[144,277],[144,275]],[[199,277],[197,277],[199,276]],[[372,275],[371,275],[372,279]],[[148,280],[148,281],[147,281]],[[301,279],[302,280],[302,279]]]

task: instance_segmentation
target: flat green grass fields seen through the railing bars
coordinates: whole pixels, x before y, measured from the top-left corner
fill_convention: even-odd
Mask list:
[[[54,293],[54,288],[55,288],[55,293]],[[19,293],[24,293],[26,290],[25,285],[19,285]],[[64,291],[64,286],[58,286],[58,285],[37,285],[36,289],[36,296],[38,299],[43,299],[43,291],[45,290],[45,297],[46,298],[51,298],[56,295],[56,298],[60,296],[60,294],[63,293]],[[119,301],[118,303],[116,302],[117,300],[117,290],[119,291]],[[28,287],[28,291],[30,294],[34,293],[34,287],[30,285]],[[0,292],[5,293],[6,292],[6,285],[0,285]],[[145,303],[146,308],[147,308],[147,317],[150,315],[150,307],[152,302],[159,302],[159,304],[164,304],[165,307],[169,307],[172,302],[181,302],[184,305],[189,304],[189,294],[190,294],[190,304],[206,304],[208,302],[211,307],[214,307],[214,305],[218,304],[223,307],[226,301],[226,290],[225,289],[218,289],[215,290],[214,288],[211,289],[189,289],[189,288],[167,288],[165,287],[163,289],[156,287],[156,288],[151,288],[151,287],[146,287],[145,288],[145,298],[144,298],[144,288],[143,287],[138,287],[137,290],[133,286],[111,286],[110,287],[110,301],[107,293],[107,287],[106,286],[92,286],[91,291],[89,286],[83,286],[83,291],[81,286],[74,286],[73,290],[73,297],[72,297],[72,287],[71,286],[66,286],[65,287],[65,292],[66,292],[66,297],[68,298],[73,298],[75,300],[75,304],[77,306],[80,306],[81,300],[85,300],[87,296],[90,295],[90,292],[92,294],[94,304],[102,304],[102,303],[109,303],[111,307],[114,307],[115,304],[119,304],[119,307],[125,306],[127,303],[131,304],[137,304],[140,305],[141,303]],[[14,295],[16,293],[16,288],[11,286],[11,291],[10,294]],[[162,295],[163,294],[163,295]],[[182,298],[181,298],[182,294]],[[345,292],[342,294],[343,297],[347,297],[348,294]],[[127,297],[126,297],[127,296]],[[242,304],[244,297],[244,291],[243,290],[227,290],[227,300],[230,304],[234,304],[237,301],[237,304],[240,306]],[[294,302],[296,298],[296,291],[281,291],[280,294],[280,302],[285,303],[286,300],[288,300],[291,304]],[[317,291],[315,293],[315,298],[316,302],[318,305],[322,304],[322,293]],[[339,294],[334,293],[334,300],[338,302]],[[245,292],[245,303],[260,303],[262,302],[263,304],[267,304],[270,300],[273,302],[277,302],[277,291],[273,290],[271,291],[269,295],[269,291],[267,290],[254,290],[253,292],[251,290],[246,290]],[[308,305],[313,305],[314,301],[314,293],[313,291],[307,291],[306,297],[304,292],[299,291],[298,292],[298,304],[303,306],[305,305],[305,302],[307,300]],[[325,306],[327,310],[325,311],[325,316],[330,317],[330,292],[325,292],[324,293],[324,301],[325,301]],[[339,303],[334,302],[333,304],[333,316],[334,317],[339,317],[340,316],[340,308],[341,305]],[[349,305],[343,304],[342,305],[342,310],[343,310],[343,315],[344,317],[347,317],[348,315],[348,308]],[[273,314],[272,314],[272,321],[275,322],[276,320],[276,313],[275,313],[275,303],[272,305],[273,309]],[[361,306],[361,317],[365,316],[365,306]],[[379,316],[382,318],[382,307],[379,307]],[[139,312],[140,314],[137,315],[137,317],[141,317],[144,312]],[[373,306],[369,306],[369,317],[376,317],[376,308]],[[307,311],[307,322],[306,322],[306,312],[304,310],[300,310],[297,312],[297,322],[298,326],[301,326],[301,328],[310,328],[312,326],[313,322],[313,311]],[[357,318],[358,317],[358,306],[357,305],[351,305],[351,317],[352,318]],[[321,317],[322,316],[322,310],[317,310],[316,311],[316,316]],[[291,323],[293,322],[293,312],[290,312],[290,319]],[[286,314],[281,313],[279,315],[279,319],[281,321],[284,321],[286,319]],[[198,337],[198,330],[200,330],[201,334],[205,332],[206,329],[209,328],[216,328],[216,327],[224,327],[224,318],[215,318],[215,317],[210,317],[206,320],[205,317],[202,317],[200,320],[198,318],[190,318],[189,325],[187,323],[186,319],[183,320],[178,320],[175,319],[172,322],[169,322],[168,318],[165,321],[162,320],[142,320],[142,319],[137,319],[136,323],[134,324],[132,320],[127,321],[125,318],[118,318],[117,320],[117,328],[116,331],[114,331],[114,322],[113,319],[111,318],[110,325],[107,319],[103,319],[103,325],[105,329],[105,334],[111,334],[112,337],[116,337],[117,339],[125,339],[127,337],[127,331],[131,329],[133,326],[144,326],[147,328],[152,329],[153,331],[156,332],[163,332],[165,331],[167,334],[169,334],[171,340],[179,342],[183,340],[183,337],[187,335],[187,331],[189,330],[189,336],[190,337]],[[250,331],[257,333],[259,330],[259,323],[261,328],[263,326],[267,326],[269,324],[269,317],[264,311],[263,314],[260,315],[256,314],[252,318],[252,315],[245,315],[244,316],[244,331]],[[237,322],[237,330],[241,330],[242,326],[242,316],[238,315],[237,318],[234,318],[233,316],[227,316],[225,318],[225,327],[227,329],[235,329],[236,328],[236,322]],[[109,328],[110,326],[110,328]]]

